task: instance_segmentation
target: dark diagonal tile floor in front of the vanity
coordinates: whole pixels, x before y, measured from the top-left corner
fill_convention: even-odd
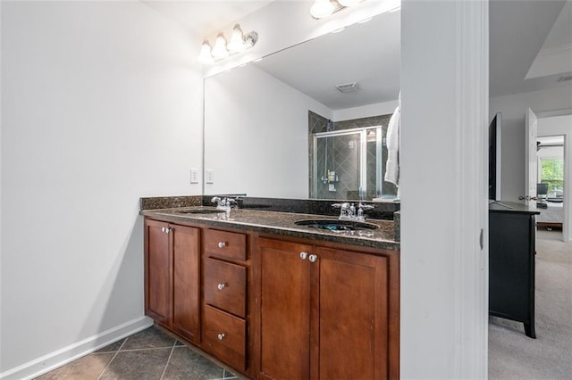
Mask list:
[[[37,377],[38,380],[238,378],[155,326]]]

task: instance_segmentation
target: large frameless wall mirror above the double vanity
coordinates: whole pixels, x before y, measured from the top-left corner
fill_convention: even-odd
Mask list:
[[[206,78],[204,193],[395,194],[383,172],[399,91],[399,11]]]

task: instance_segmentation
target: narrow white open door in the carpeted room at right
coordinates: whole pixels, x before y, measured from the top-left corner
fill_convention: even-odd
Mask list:
[[[538,118],[530,108],[526,112],[526,149],[525,149],[525,196],[524,202],[536,207],[536,184],[538,181],[538,160],[536,140],[538,135]]]

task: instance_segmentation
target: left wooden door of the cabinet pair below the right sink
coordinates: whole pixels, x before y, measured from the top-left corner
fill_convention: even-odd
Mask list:
[[[300,252],[310,247],[259,239],[260,376],[309,377],[310,263]]]

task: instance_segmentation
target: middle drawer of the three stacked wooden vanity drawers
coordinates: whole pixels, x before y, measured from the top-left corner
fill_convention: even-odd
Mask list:
[[[205,303],[231,314],[246,316],[247,268],[205,259]]]

